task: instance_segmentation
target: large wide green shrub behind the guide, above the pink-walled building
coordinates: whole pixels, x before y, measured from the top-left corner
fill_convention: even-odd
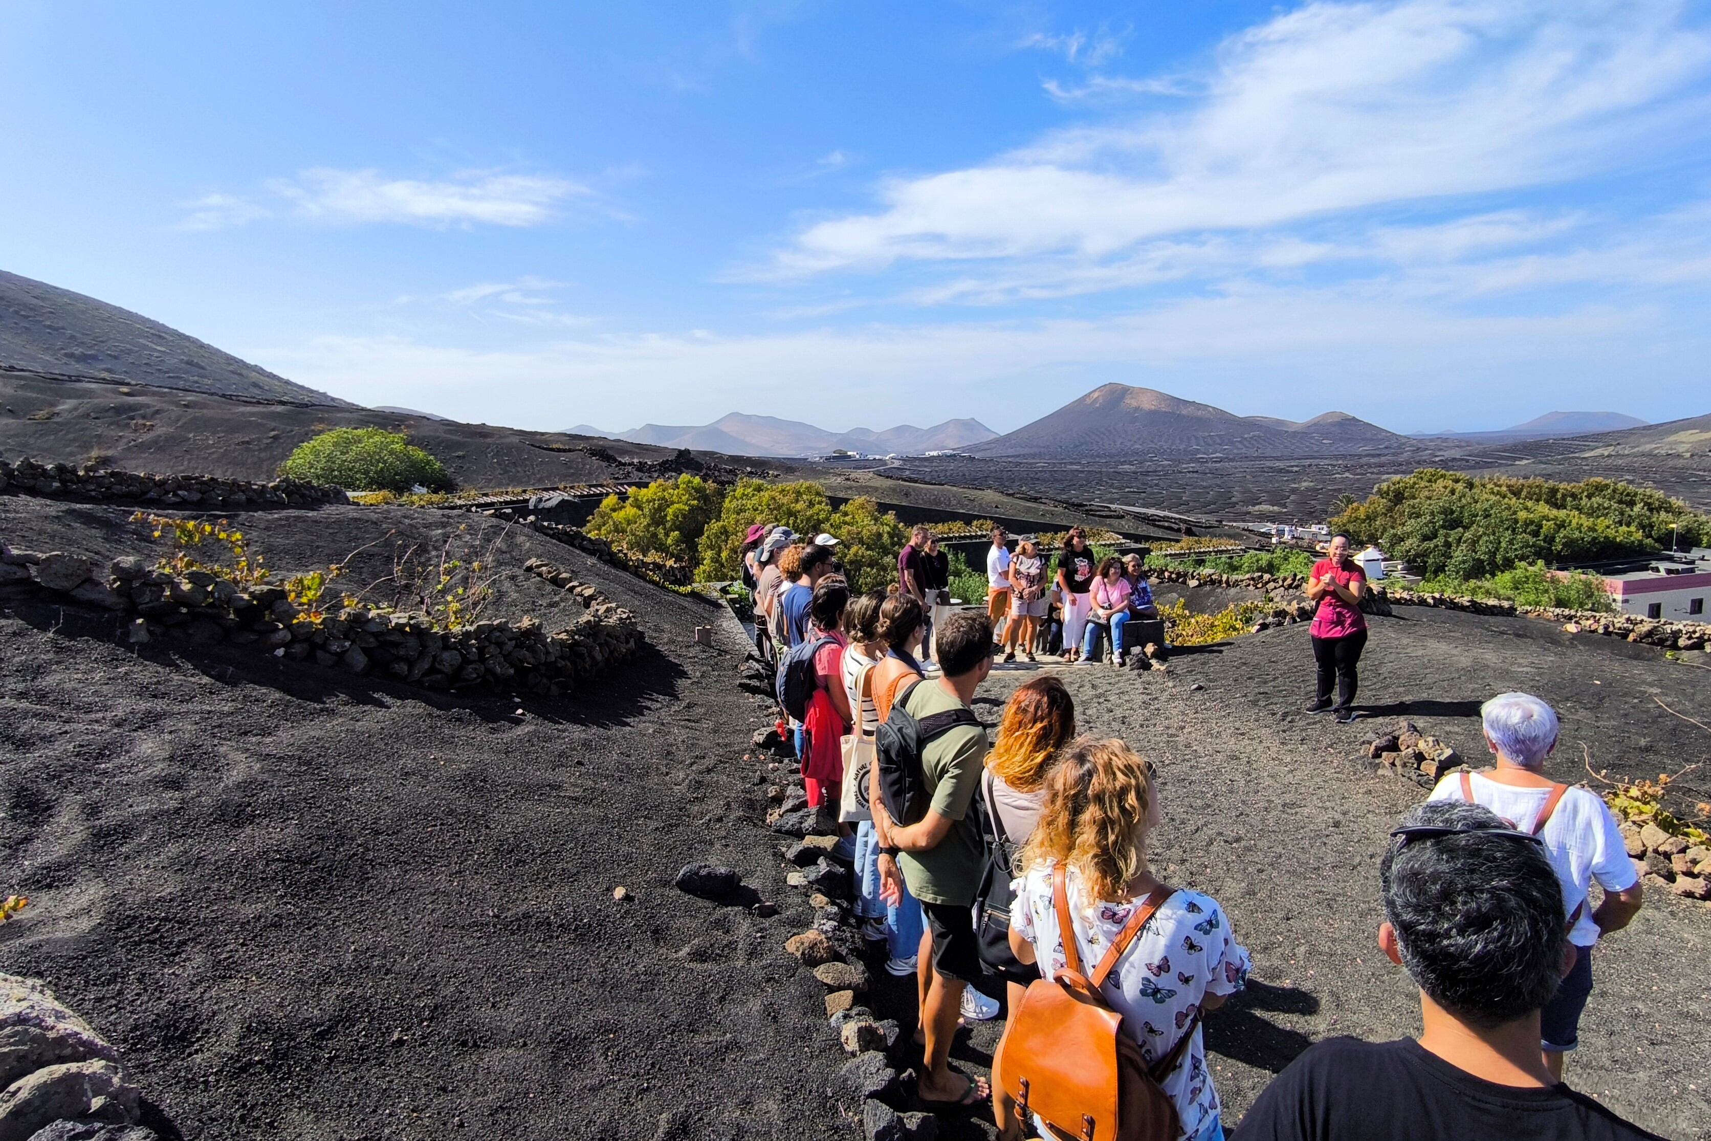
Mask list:
[[[1470,477],[1420,469],[1389,479],[1331,520],[1425,578],[1480,580],[1528,563],[1651,554],[1678,525],[1684,546],[1711,539],[1711,518],[1660,491],[1608,479]]]

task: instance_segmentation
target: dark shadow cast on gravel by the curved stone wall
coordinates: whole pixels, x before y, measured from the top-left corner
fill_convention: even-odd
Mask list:
[[[515,722],[517,710],[549,724],[589,725],[597,729],[628,725],[657,701],[674,701],[688,671],[666,657],[654,643],[643,641],[635,659],[614,674],[583,683],[566,696],[548,698],[534,693],[472,691],[436,693],[392,681],[387,676],[334,672],[286,659],[274,659],[228,645],[149,643],[132,647],[121,641],[123,619],[106,611],[58,606],[38,599],[0,597],[0,612],[43,633],[113,643],[145,662],[161,667],[192,669],[222,686],[253,684],[277,689],[298,701],[323,705],[330,700],[382,706],[392,701],[419,701],[436,710],[469,710],[484,722]]]

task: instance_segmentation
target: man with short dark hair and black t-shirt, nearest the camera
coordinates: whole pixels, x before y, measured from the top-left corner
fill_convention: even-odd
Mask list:
[[[1379,884],[1379,948],[1420,987],[1420,1037],[1311,1047],[1234,1141],[1653,1138],[1557,1081],[1540,1054],[1540,1011],[1576,955],[1538,837],[1429,801],[1391,833]]]

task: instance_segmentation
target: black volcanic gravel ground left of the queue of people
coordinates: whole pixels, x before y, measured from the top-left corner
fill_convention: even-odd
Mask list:
[[[19,503],[14,546],[113,549]],[[269,549],[339,554],[347,522],[279,513]],[[517,542],[652,648],[561,701],[462,701],[0,612],[0,893],[31,896],[0,970],[46,978],[186,1138],[849,1136],[825,987],[782,951],[811,915],[741,761],[739,635],[696,647],[715,607]],[[782,913],[676,891],[702,859]]]

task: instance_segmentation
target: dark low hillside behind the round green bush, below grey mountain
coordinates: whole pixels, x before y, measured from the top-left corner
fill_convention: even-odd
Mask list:
[[[460,488],[548,488],[635,479],[623,460],[674,448],[359,407],[306,407],[98,381],[0,373],[0,455],[229,479],[274,479],[291,450],[329,428],[404,431]],[[703,457],[725,462],[727,457]],[[737,462],[746,465],[744,462]],[[772,465],[777,465],[773,462]]]

